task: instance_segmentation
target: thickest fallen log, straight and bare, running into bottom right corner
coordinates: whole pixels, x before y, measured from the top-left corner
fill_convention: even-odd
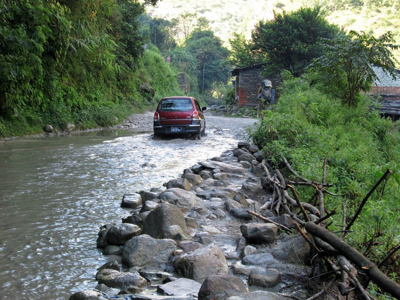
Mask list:
[[[305,229],[312,235],[317,236],[330,244],[340,254],[351,260],[359,268],[362,268],[367,276],[371,278],[371,280],[373,280],[382,290],[391,294],[397,299],[400,298],[400,285],[383,274],[374,263],[369,261],[355,248],[325,228],[315,225],[313,222],[307,222],[305,224]]]

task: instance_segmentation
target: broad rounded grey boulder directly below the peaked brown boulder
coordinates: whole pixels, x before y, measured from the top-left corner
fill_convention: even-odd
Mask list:
[[[175,249],[175,242],[171,239],[155,239],[142,234],[125,243],[122,249],[122,264],[127,267],[141,267],[166,262]]]

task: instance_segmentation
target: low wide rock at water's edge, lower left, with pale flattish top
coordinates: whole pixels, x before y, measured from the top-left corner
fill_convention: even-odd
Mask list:
[[[103,283],[108,287],[115,288],[126,288],[129,285],[134,285],[137,287],[147,286],[147,280],[144,279],[139,273],[131,272],[117,272],[113,271],[105,276],[102,276],[98,283]]]

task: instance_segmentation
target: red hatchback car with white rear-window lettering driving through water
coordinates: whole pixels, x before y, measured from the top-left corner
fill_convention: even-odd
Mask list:
[[[154,112],[154,136],[168,134],[190,134],[204,136],[203,110],[193,97],[162,98]]]

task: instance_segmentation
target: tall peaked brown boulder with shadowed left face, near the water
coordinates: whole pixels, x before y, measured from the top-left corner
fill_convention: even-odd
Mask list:
[[[186,232],[184,215],[180,209],[173,204],[163,202],[143,220],[143,234],[154,238],[163,238],[164,230],[171,225],[178,225],[183,233]]]

